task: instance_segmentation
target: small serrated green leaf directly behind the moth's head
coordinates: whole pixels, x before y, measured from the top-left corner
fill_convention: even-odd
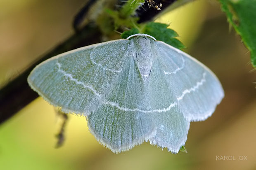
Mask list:
[[[178,36],[178,34],[174,30],[167,27],[168,25],[164,23],[149,22],[142,29],[142,33],[151,35],[155,37],[156,40],[163,41],[178,49],[185,48],[185,46],[175,38]]]

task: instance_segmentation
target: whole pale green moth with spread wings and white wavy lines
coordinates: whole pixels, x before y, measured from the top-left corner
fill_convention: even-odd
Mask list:
[[[144,141],[178,153],[190,121],[207,119],[224,96],[209,68],[145,34],[59,54],[37,65],[28,84],[63,112],[86,116],[114,153]]]

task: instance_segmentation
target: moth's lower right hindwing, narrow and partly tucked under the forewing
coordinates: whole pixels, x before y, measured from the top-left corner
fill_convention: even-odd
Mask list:
[[[148,80],[148,93],[152,117],[156,124],[156,135],[149,139],[151,144],[178,153],[187,140],[190,122],[178,108],[178,103],[169,86],[162,68],[161,58],[156,56]]]

